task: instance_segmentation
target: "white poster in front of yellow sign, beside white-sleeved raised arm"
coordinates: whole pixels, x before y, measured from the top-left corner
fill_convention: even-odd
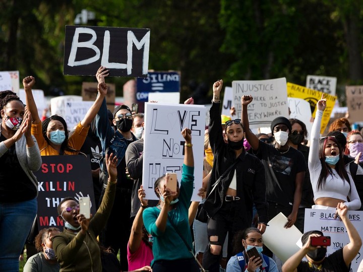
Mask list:
[[[310,103],[304,99],[292,97],[288,97],[287,102],[290,109],[290,118],[298,119],[306,125],[308,139],[310,139],[313,126]]]

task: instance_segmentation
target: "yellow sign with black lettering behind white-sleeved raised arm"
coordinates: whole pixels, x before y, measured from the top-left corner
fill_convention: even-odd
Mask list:
[[[321,99],[323,92],[319,92],[316,90],[308,89],[304,86],[299,86],[292,83],[287,83],[287,96],[293,97],[293,98],[301,98],[305,101],[308,101],[310,104],[312,116],[315,118],[315,112],[316,112],[316,104]],[[327,106],[324,110],[322,122],[321,122],[321,128],[320,133],[323,133],[325,130],[325,127],[329,123],[330,120],[330,114],[333,110],[335,100],[337,99],[336,96],[332,96],[329,94],[325,94],[325,99],[327,100]]]

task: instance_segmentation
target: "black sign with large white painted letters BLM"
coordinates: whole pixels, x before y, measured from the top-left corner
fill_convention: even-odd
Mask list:
[[[64,74],[94,76],[99,66],[110,77],[147,77],[150,29],[66,26]]]

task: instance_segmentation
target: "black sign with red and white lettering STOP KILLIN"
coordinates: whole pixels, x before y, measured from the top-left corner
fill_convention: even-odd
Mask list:
[[[57,207],[63,198],[80,196],[91,198],[91,214],[96,213],[90,159],[82,155],[42,156],[42,165],[34,173],[38,179],[39,229],[63,228]]]

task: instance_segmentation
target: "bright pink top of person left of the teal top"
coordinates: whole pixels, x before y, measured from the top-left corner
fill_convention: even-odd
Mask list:
[[[128,262],[130,271],[139,269],[145,265],[150,265],[153,259],[154,255],[152,249],[146,245],[144,241],[141,241],[138,250],[134,253],[130,252],[128,243]]]

